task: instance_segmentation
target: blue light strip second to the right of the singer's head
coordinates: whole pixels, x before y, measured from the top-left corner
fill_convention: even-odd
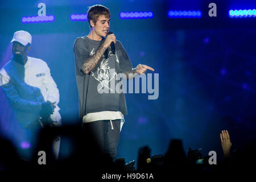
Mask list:
[[[168,11],[169,18],[201,18],[202,12],[198,11]]]

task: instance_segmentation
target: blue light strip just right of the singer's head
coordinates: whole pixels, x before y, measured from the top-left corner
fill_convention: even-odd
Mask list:
[[[119,13],[119,17],[121,19],[146,19],[146,18],[153,18],[154,13],[152,11],[121,12]]]

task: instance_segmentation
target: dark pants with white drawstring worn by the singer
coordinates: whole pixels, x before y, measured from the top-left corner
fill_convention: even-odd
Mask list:
[[[93,121],[83,123],[82,129],[85,133],[92,135],[101,152],[109,154],[114,160],[117,156],[120,123],[120,119],[112,120],[112,124],[110,120]]]

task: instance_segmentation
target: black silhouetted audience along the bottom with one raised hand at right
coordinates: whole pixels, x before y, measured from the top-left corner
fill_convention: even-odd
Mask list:
[[[68,137],[72,142],[72,154],[66,158],[60,156],[56,159],[53,155],[51,143],[56,135]],[[0,171],[61,172],[64,175],[76,173],[86,176],[94,174],[94,177],[97,176],[94,181],[97,181],[106,172],[161,173],[164,176],[177,173],[217,174],[223,171],[236,173],[254,169],[256,145],[253,137],[244,140],[238,147],[233,146],[228,130],[222,130],[216,135],[220,135],[219,142],[223,151],[221,155],[224,156],[224,160],[217,160],[216,165],[209,164],[210,156],[203,156],[200,150],[189,148],[185,152],[182,140],[172,139],[164,155],[151,156],[151,148],[142,146],[138,151],[135,168],[135,160],[126,163],[124,158],[113,160],[108,154],[102,153],[90,131],[82,130],[81,126],[46,127],[40,133],[32,160],[20,158],[10,140],[1,136]],[[38,151],[46,152],[46,165],[39,164]]]

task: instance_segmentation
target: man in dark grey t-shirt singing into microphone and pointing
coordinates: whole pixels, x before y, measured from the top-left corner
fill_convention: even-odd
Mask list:
[[[114,34],[109,34],[110,11],[102,5],[88,10],[90,32],[75,40],[73,51],[76,63],[76,81],[79,90],[79,110],[82,127],[89,127],[101,150],[113,160],[117,155],[119,132],[127,114],[125,94],[111,86],[146,73],[147,65],[133,68],[127,52]]]

